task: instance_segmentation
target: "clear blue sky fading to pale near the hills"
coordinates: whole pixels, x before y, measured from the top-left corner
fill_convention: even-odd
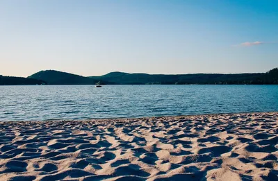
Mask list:
[[[276,0],[0,0],[0,74],[265,72]]]

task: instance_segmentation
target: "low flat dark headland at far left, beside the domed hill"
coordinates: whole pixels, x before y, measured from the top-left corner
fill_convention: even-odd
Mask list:
[[[44,85],[46,84],[42,80],[36,80],[33,78],[23,77],[11,77],[0,75],[0,85]]]

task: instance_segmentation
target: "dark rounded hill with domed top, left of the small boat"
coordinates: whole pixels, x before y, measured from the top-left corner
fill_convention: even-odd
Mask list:
[[[49,85],[95,85],[98,82],[94,78],[54,70],[39,71],[28,78],[44,80]]]

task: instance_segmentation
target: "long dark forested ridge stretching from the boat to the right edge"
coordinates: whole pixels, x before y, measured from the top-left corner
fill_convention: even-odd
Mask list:
[[[152,75],[128,74],[111,72],[104,76],[92,76],[101,82],[109,81],[117,85],[142,85],[142,84],[278,84],[278,69],[266,73],[254,74],[181,74],[181,75]]]

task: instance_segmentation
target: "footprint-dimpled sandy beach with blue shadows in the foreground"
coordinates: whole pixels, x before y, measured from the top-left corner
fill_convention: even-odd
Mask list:
[[[278,180],[278,112],[0,122],[0,180]]]

